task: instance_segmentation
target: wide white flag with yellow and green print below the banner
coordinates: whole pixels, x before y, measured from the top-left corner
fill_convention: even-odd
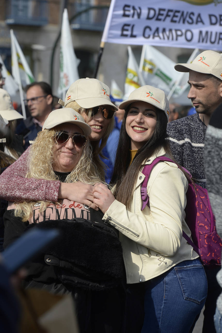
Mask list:
[[[175,63],[150,45],[143,45],[139,71],[145,83],[159,88],[168,94],[179,77]]]

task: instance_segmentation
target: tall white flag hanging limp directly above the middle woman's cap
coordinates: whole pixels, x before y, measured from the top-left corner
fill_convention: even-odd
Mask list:
[[[65,8],[63,12],[60,44],[60,80],[58,87],[59,95],[65,95],[71,84],[79,79],[79,63],[80,60],[77,59],[73,49],[68,11]]]

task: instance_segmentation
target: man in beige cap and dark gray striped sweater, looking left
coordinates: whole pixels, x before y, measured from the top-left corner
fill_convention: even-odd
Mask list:
[[[196,114],[184,117],[167,125],[172,154],[176,161],[184,166],[195,181],[206,188],[203,162],[204,138],[207,125],[214,110],[222,103],[222,54],[215,51],[203,51],[191,64],[176,64],[178,72],[189,72],[191,99]],[[216,332],[213,316],[216,299],[221,288],[216,280],[220,267],[208,269],[208,295],[205,303],[203,332]]]

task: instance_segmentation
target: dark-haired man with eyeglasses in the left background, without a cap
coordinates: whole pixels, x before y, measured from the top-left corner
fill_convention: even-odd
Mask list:
[[[34,140],[52,111],[53,95],[52,88],[46,82],[33,82],[26,86],[26,99],[24,100],[30,112],[30,117],[24,120],[26,127],[30,130],[25,138],[25,148],[29,141]]]

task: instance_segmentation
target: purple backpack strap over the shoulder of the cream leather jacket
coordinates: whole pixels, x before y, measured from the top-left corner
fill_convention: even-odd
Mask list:
[[[153,166],[155,166],[160,161],[173,162],[172,160],[168,159],[165,156],[159,156],[155,160],[153,160],[153,162],[151,164],[145,165],[142,169],[142,173],[145,175],[145,178],[142,182],[141,189],[140,189],[141,198],[142,198],[142,209],[141,210],[143,210],[146,205],[149,206],[149,196],[147,195],[147,189],[146,189],[147,183],[148,183],[149,175],[150,175],[150,172],[152,171]]]

